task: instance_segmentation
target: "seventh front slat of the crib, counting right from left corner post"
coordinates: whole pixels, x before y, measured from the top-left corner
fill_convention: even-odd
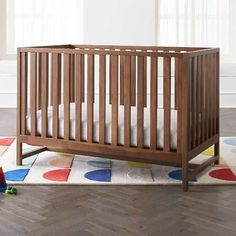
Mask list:
[[[106,56],[99,56],[99,143],[106,141]]]

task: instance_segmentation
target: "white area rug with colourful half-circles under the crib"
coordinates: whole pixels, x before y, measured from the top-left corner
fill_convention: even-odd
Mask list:
[[[24,145],[25,152],[37,147]],[[201,163],[213,155],[213,147],[197,156]],[[40,185],[178,185],[181,169],[117,161],[98,157],[44,152],[16,166],[16,140],[0,138],[0,166],[8,184]],[[221,138],[221,164],[206,169],[191,184],[236,184],[236,137]]]

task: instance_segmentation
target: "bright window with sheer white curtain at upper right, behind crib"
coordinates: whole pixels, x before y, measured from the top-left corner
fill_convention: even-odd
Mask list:
[[[235,0],[157,0],[157,43],[220,47],[236,63]]]

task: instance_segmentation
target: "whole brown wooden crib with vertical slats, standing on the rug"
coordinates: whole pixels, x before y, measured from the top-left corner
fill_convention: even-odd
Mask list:
[[[27,47],[18,48],[17,62],[18,165],[31,155],[60,151],[182,167],[183,189],[187,191],[192,175],[219,162],[217,48]],[[82,122],[83,112],[86,123]],[[173,112],[176,145],[171,144]],[[136,122],[132,128],[131,120]],[[159,141],[162,145],[157,145]],[[41,147],[22,153],[23,143]],[[200,165],[189,163],[212,145],[214,157]]]

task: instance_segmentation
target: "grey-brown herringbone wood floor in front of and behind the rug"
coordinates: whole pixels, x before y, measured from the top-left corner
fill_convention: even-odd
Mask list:
[[[14,127],[6,130],[14,114],[4,110],[0,135],[14,133]],[[236,135],[236,110],[223,110],[222,117],[223,135]],[[18,191],[16,197],[0,195],[0,236],[236,235],[235,186],[194,186],[187,193],[179,186],[19,186]]]

